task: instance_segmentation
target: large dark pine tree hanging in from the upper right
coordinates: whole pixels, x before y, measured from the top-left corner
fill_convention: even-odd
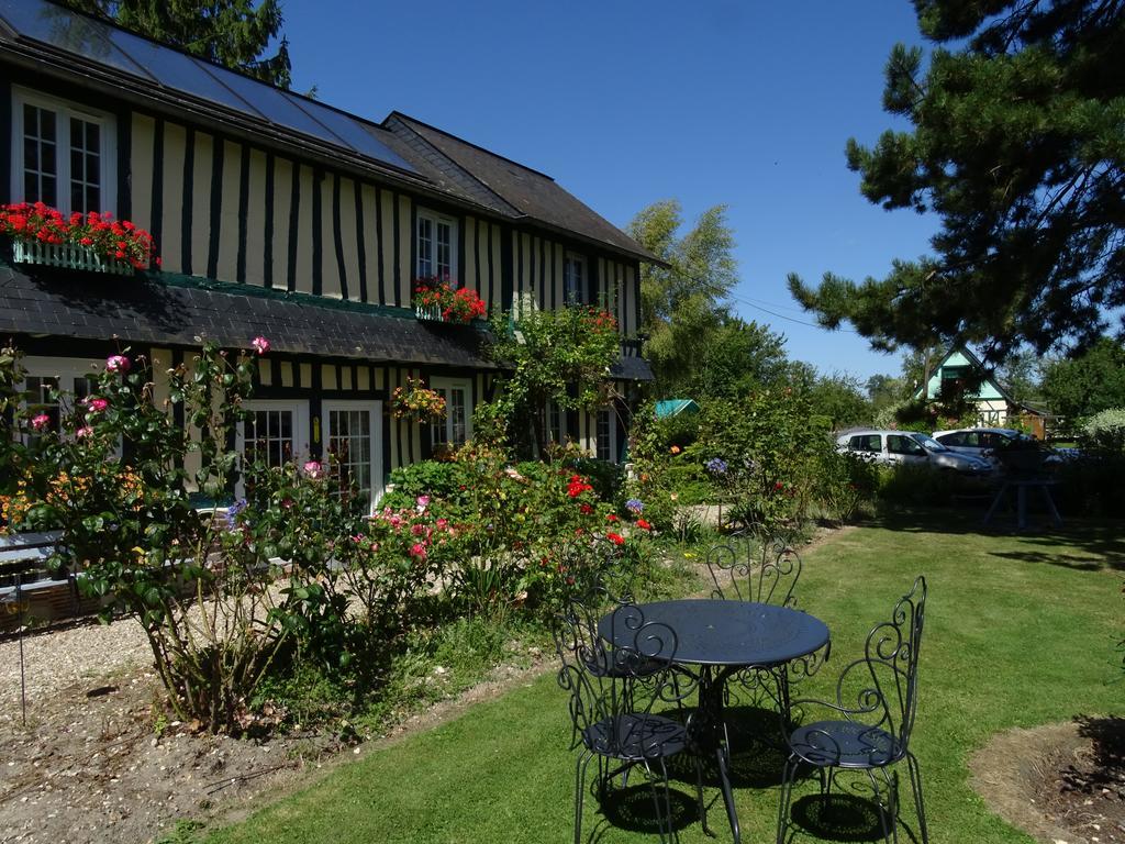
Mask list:
[[[936,46],[924,71],[921,48],[897,45],[883,93],[912,131],[853,138],[847,161],[872,203],[940,216],[934,253],[862,284],[791,275],[791,291],[878,349],[956,339],[996,362],[1025,342],[1090,345],[1125,305],[1125,3],[915,7]]]

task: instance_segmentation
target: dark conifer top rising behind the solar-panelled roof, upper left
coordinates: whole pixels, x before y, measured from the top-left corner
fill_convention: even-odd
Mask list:
[[[64,0],[78,11],[112,20],[192,55],[281,88],[291,81],[280,0]]]

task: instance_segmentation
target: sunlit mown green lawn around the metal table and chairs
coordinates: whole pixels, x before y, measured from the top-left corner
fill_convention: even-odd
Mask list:
[[[958,521],[970,524],[968,532],[945,528]],[[819,697],[830,693],[835,672],[861,654],[866,631],[915,575],[927,576],[914,749],[935,844],[1029,842],[971,790],[968,758],[1009,727],[1119,711],[1123,691],[1115,649],[1125,568],[1118,527],[997,536],[974,532],[975,523],[973,514],[944,511],[849,530],[806,555],[799,585],[801,607],[832,634],[831,661],[801,690]],[[565,697],[552,675],[542,676],[452,722],[364,753],[208,841],[567,842],[569,737]],[[796,797],[811,791],[806,783]],[[708,797],[714,796],[710,789]],[[773,839],[777,796],[775,782],[738,789],[744,841]],[[595,811],[596,802],[587,800],[587,833],[597,826]],[[729,841],[721,801],[710,819],[718,839]],[[681,838],[712,841],[698,823]],[[596,841],[656,836],[603,825]],[[817,838],[799,834],[796,841]]]

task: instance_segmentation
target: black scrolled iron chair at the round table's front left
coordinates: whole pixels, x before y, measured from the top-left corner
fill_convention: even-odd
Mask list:
[[[596,604],[572,601],[558,619],[555,646],[562,666],[558,683],[569,693],[572,749],[582,748],[575,767],[575,844],[582,841],[586,772],[597,758],[596,794],[604,800],[614,779],[642,770],[652,790],[660,841],[676,841],[667,760],[687,748],[686,727],[655,711],[678,704],[673,679],[676,635],[667,625],[645,621],[640,608],[618,603],[598,627]],[[696,799],[706,828],[703,773],[696,761]]]

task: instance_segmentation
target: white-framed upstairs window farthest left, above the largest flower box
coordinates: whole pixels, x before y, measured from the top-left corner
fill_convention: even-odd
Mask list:
[[[15,201],[63,214],[114,209],[112,117],[17,88],[11,127]]]

